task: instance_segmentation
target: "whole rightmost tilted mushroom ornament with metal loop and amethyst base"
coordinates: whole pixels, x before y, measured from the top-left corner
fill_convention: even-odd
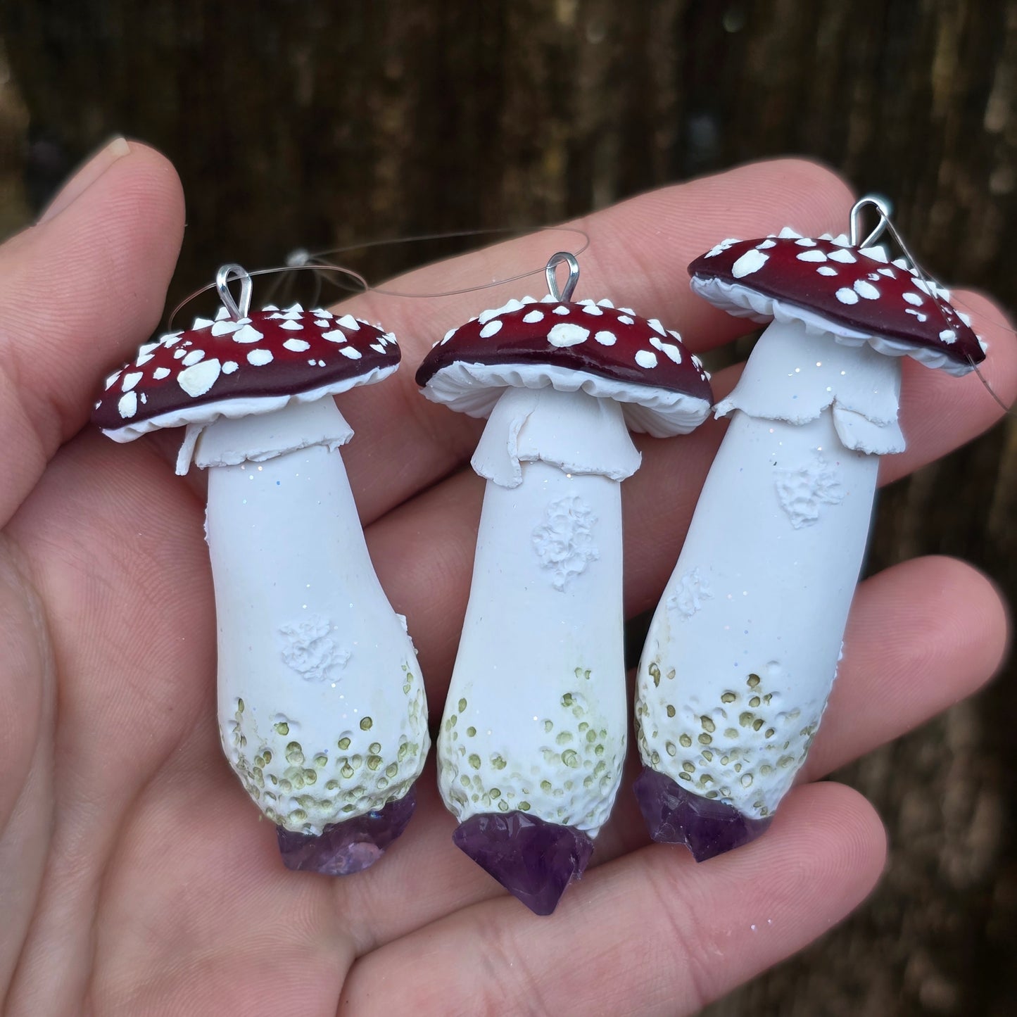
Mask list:
[[[880,225],[859,242],[870,204]],[[725,240],[689,266],[714,305],[772,321],[715,408],[730,424],[637,678],[641,809],[698,860],[766,829],[820,724],[879,457],[904,448],[900,358],[955,375],[984,358],[947,291],[873,245],[887,227],[900,242],[877,199],[851,227]]]

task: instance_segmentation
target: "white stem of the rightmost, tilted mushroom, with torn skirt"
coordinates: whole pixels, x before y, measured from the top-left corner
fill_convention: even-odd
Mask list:
[[[650,626],[636,716],[647,767],[752,819],[790,787],[833,684],[899,370],[775,323],[718,406],[731,423]]]

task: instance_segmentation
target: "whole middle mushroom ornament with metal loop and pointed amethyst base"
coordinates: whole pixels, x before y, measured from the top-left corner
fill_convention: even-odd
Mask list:
[[[484,311],[417,372],[428,399],[489,418],[438,784],[455,843],[537,914],[582,874],[621,778],[620,482],[640,464],[629,429],[685,433],[711,403],[677,333],[606,300],[570,302],[578,274],[554,255],[549,296]]]

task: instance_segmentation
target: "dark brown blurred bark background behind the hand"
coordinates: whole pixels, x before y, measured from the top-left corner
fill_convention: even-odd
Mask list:
[[[1007,302],[1015,94],[1017,0],[4,0],[0,233],[115,132],[183,178],[174,302],[224,261],[551,223],[801,153],[891,197],[933,274]],[[870,570],[958,554],[1017,598],[1014,424],[884,492]],[[711,1017],[1017,1013],[1013,678],[838,774],[887,824],[886,878]]]

